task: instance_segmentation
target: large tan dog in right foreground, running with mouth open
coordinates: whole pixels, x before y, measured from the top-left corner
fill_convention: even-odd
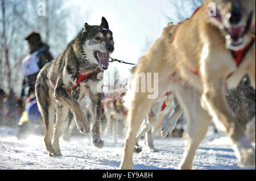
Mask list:
[[[212,16],[209,6],[214,5]],[[135,73],[158,73],[158,98],[167,91],[174,92],[188,121],[188,144],[180,169],[192,168],[211,116],[232,140],[240,162],[255,165],[255,150],[223,95],[225,86],[236,87],[246,73],[255,88],[255,36],[249,32],[254,11],[254,0],[205,0],[191,19],[168,25],[139,61]],[[240,49],[246,50],[237,51]],[[142,85],[138,74],[134,75],[134,86]],[[148,91],[128,93],[132,95],[129,128],[120,169],[133,169],[135,134],[158,100],[148,99]]]

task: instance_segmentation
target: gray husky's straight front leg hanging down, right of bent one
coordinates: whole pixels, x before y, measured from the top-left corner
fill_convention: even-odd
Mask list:
[[[100,133],[101,113],[102,113],[101,94],[89,94],[89,96],[90,96],[90,100],[92,101],[93,144],[97,148],[102,148],[104,146],[104,141],[101,140],[101,133]]]

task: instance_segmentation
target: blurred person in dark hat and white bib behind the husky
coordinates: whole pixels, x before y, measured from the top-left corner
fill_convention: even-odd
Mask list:
[[[22,61],[25,76],[21,96],[26,98],[26,102],[24,103],[25,111],[23,111],[19,119],[19,125],[28,123],[30,119],[34,120],[40,118],[40,112],[35,98],[36,77],[40,69],[53,59],[51,52],[49,52],[49,46],[42,42],[39,33],[30,33],[25,40],[28,42],[30,53]]]

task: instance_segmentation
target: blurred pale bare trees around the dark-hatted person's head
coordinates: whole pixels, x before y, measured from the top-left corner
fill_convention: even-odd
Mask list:
[[[46,16],[38,15],[39,2],[45,3]],[[61,0],[0,0],[0,86],[6,92],[20,92],[21,64],[28,53],[24,37],[30,32],[39,31],[54,56],[67,45],[69,11],[61,5]]]

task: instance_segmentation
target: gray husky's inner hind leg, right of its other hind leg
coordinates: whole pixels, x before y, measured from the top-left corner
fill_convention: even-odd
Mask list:
[[[63,125],[67,119],[69,109],[63,103],[57,102],[55,106],[55,110],[56,110],[56,123],[55,123],[55,129],[53,134],[52,146],[61,155],[59,137],[63,129]]]

